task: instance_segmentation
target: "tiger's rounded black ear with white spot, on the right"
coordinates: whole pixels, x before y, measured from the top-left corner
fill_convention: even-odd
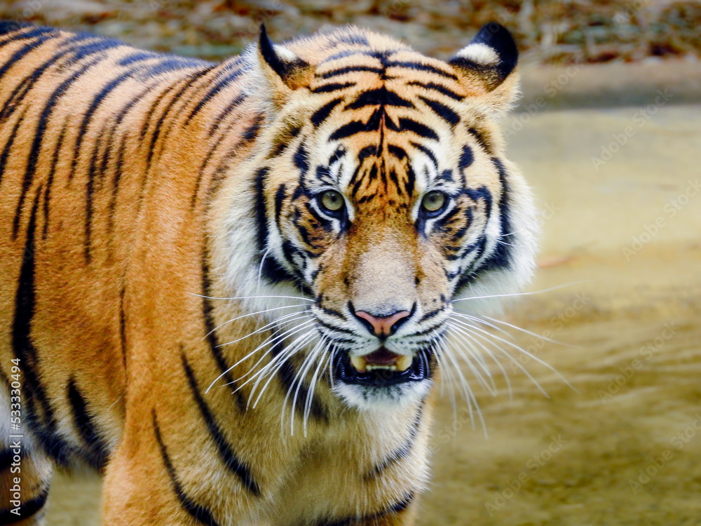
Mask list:
[[[449,64],[461,83],[495,109],[508,109],[518,95],[519,58],[516,42],[508,29],[490,22],[456,53]]]

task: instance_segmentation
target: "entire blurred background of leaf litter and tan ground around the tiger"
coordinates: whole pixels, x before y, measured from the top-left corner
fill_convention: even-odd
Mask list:
[[[701,524],[700,2],[2,0],[0,16],[210,60],[261,23],[277,41],[351,23],[439,58],[508,27],[523,97],[503,128],[540,269],[485,343],[503,371],[472,380],[484,423],[440,398],[418,524]],[[97,525],[97,476],[54,490],[49,525]]]

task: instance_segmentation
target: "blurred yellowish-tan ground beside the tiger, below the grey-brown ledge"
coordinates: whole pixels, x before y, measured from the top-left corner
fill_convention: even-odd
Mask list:
[[[421,526],[701,521],[701,106],[640,112],[505,119],[543,210],[531,290],[567,285],[505,317],[562,344],[508,332],[573,389],[522,360],[546,398],[502,358],[511,398],[496,366],[496,396],[472,382],[489,438],[441,398]],[[97,525],[99,498],[97,477],[57,476],[49,524]]]

